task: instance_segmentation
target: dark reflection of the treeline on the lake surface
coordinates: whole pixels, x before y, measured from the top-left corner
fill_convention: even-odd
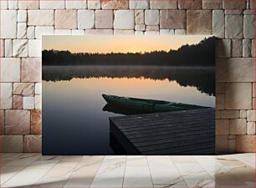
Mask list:
[[[205,94],[215,94],[215,69],[212,67],[156,67],[156,66],[44,66],[46,81],[74,78],[141,78],[177,81],[181,86],[196,87]]]

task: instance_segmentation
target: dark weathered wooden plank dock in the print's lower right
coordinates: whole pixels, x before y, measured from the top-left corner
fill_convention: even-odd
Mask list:
[[[110,134],[127,155],[214,155],[215,109],[111,117]]]

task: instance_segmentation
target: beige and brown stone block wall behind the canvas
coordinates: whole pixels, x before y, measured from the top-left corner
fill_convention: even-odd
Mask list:
[[[255,151],[254,0],[1,0],[3,152],[41,150],[44,34],[216,36],[217,151]]]

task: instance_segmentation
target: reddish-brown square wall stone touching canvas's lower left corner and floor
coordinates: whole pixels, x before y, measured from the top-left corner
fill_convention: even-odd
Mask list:
[[[25,135],[24,136],[24,152],[41,153],[42,152],[42,136],[41,135]]]

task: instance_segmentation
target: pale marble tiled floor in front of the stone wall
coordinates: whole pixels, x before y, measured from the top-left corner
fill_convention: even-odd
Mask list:
[[[255,154],[1,154],[1,187],[255,187]]]

